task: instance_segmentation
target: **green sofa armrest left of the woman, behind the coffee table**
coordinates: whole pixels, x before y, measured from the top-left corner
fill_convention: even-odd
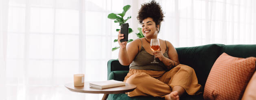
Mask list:
[[[118,60],[111,59],[107,62],[107,79],[109,79],[109,75],[112,71],[129,71],[129,65],[123,66],[119,63]]]

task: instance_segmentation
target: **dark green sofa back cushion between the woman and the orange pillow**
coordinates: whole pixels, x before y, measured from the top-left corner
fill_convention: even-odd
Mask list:
[[[196,47],[176,48],[179,62],[195,70],[198,83],[204,85],[215,60],[221,55],[223,44],[209,44]]]

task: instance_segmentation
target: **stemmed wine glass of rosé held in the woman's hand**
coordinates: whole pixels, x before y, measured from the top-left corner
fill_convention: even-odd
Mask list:
[[[152,51],[160,50],[159,39],[151,39],[150,48]],[[158,64],[158,62],[155,61],[155,54],[154,54],[154,61],[151,63]]]

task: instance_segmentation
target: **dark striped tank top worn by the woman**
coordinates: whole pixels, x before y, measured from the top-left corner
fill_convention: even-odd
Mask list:
[[[151,70],[151,71],[164,71],[166,70],[166,66],[162,61],[159,60],[159,58],[155,58],[155,60],[158,62],[158,64],[152,64],[151,62],[154,61],[154,55],[149,54],[142,46],[142,40],[141,41],[141,47],[139,53],[135,56],[132,63],[130,64],[130,69],[141,69],[141,70]],[[166,44],[166,41],[165,41]],[[166,45],[166,52],[163,53],[163,55],[166,58],[168,57],[168,47]]]

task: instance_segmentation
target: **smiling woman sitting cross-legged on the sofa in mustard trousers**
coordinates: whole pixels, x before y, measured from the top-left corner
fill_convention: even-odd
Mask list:
[[[137,85],[135,90],[127,92],[130,97],[154,96],[166,100],[179,100],[184,92],[189,95],[199,93],[201,85],[197,82],[195,71],[191,67],[179,64],[178,54],[170,42],[159,39],[161,49],[151,51],[151,39],[158,38],[163,18],[161,6],[153,0],[142,4],[137,17],[145,37],[127,45],[127,42],[120,42],[124,37],[119,31],[118,60],[121,65],[130,65],[124,81]],[[151,64],[154,55],[158,64]]]

